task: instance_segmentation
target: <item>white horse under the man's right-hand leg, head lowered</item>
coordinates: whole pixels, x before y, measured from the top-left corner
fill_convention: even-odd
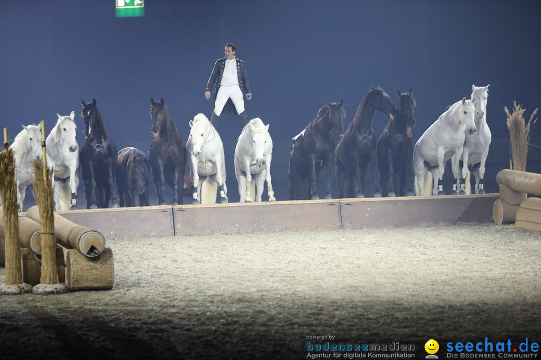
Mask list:
[[[252,175],[255,179],[255,201],[261,201],[265,181],[269,201],[276,200],[271,184],[272,139],[268,130],[268,125],[255,118],[242,129],[237,139],[235,176],[239,183],[240,202],[252,202]]]

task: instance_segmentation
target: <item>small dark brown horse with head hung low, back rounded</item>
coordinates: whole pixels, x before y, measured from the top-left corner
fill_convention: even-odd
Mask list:
[[[148,206],[148,178],[150,164],[141,150],[124,147],[118,152],[116,163],[116,184],[121,207],[135,205],[136,195],[139,206]]]

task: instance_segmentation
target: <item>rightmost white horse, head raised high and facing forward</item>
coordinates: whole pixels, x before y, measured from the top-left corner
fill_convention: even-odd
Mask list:
[[[466,134],[464,140],[464,151],[462,152],[462,177],[466,180],[466,192],[470,189],[470,170],[476,179],[475,192],[476,194],[484,194],[483,178],[485,176],[485,162],[489,155],[489,146],[492,140],[489,125],[486,124],[486,103],[489,97],[489,85],[475,86],[472,85],[471,98],[474,100],[476,111],[475,126],[477,131],[470,135]],[[458,184],[457,184],[458,185]],[[460,192],[463,193],[462,191]]]

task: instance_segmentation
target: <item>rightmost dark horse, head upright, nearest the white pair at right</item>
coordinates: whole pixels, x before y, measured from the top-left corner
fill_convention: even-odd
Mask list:
[[[410,184],[408,179],[411,176],[415,145],[411,128],[415,126],[413,109],[417,105],[412,95],[413,90],[408,93],[398,91],[396,116],[389,120],[378,139],[377,154],[382,196],[395,196],[396,193],[398,196],[405,196],[406,186]],[[411,187],[408,190],[411,192]]]

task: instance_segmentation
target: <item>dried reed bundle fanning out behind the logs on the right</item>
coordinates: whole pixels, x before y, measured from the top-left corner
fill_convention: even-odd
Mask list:
[[[528,146],[530,144],[530,138],[532,136],[533,125],[537,119],[533,119],[537,113],[538,108],[533,111],[530,116],[530,120],[526,123],[523,114],[526,109],[522,108],[522,105],[517,105],[516,101],[513,101],[514,110],[510,114],[507,107],[504,107],[507,114],[507,127],[509,128],[509,134],[511,135],[511,158],[509,161],[509,167],[512,170],[526,171],[526,158],[528,155]]]

